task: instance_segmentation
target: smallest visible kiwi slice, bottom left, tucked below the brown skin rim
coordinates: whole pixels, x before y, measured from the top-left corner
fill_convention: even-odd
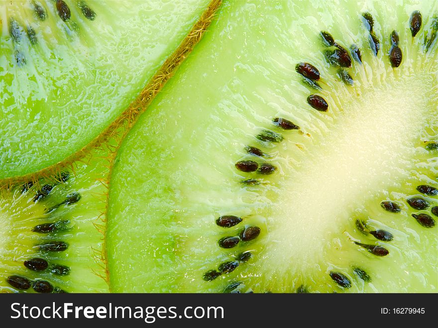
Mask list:
[[[0,292],[108,292],[109,148],[74,169],[1,191]]]

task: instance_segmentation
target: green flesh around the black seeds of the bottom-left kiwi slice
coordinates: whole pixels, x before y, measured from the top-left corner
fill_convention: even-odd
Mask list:
[[[7,283],[7,277],[19,275],[31,281],[45,280],[66,292],[90,293],[108,292],[105,262],[103,259],[105,233],[105,206],[107,187],[101,182],[108,176],[108,151],[95,152],[90,161],[76,163],[75,173],[70,172],[66,183],[56,185],[46,198],[34,202],[38,191],[36,186],[22,193],[17,187],[4,192],[0,198],[0,292],[18,291]],[[66,170],[68,171],[68,170]],[[40,186],[46,184],[40,181]],[[79,193],[79,202],[61,205],[66,196]],[[43,223],[69,220],[68,229],[50,233],[32,230]],[[64,251],[40,251],[36,246],[48,241],[64,241],[68,248]],[[24,266],[24,261],[42,258],[48,261],[49,270],[32,271]],[[50,272],[50,267],[60,264],[70,267],[65,276]],[[32,293],[32,287],[24,292]]]

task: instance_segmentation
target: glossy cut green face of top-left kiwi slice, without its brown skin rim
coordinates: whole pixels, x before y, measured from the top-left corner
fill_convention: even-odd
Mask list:
[[[207,4],[1,1],[0,179],[53,165],[98,137]]]

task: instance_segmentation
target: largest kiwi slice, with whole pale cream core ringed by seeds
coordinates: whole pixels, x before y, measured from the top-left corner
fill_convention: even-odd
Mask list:
[[[225,3],[117,154],[111,290],[437,292],[436,17]]]

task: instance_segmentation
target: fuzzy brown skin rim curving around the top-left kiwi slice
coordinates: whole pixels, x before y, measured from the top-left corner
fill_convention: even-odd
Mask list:
[[[160,92],[166,82],[173,76],[179,65],[190,54],[193,47],[201,40],[207,28],[215,18],[215,13],[219,9],[222,0],[211,0],[207,9],[203,12],[198,21],[193,25],[190,32],[178,46],[178,48],[166,59],[161,68],[155,73],[150,82],[143,88],[137,98],[116,118],[98,137],[88,145],[68,156],[64,160],[50,165],[40,171],[0,180],[0,191],[7,190],[11,186],[26,182],[38,183],[41,178],[47,180],[57,180],[61,170],[71,168],[74,172],[74,162],[78,160],[87,161],[91,157],[93,149],[109,143],[110,139],[121,142],[126,133],[134,125],[139,115],[146,110],[150,102]],[[109,145],[108,145],[109,146]],[[113,152],[116,152],[114,149]]]

